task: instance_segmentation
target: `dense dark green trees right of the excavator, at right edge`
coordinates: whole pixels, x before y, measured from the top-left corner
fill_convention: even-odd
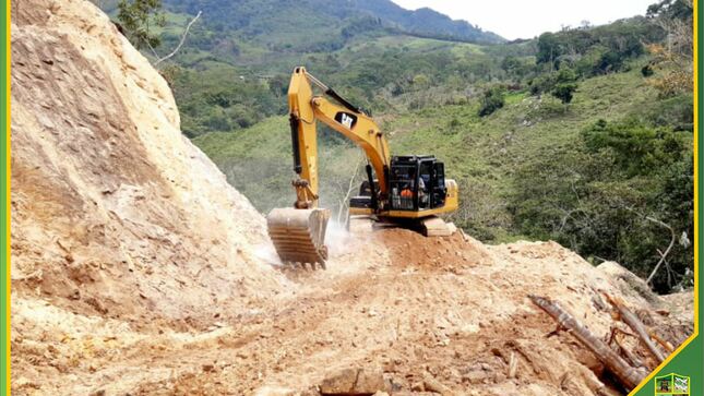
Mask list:
[[[613,260],[653,286],[687,287],[693,250],[692,133],[637,118],[599,120],[577,142],[516,169],[510,204],[517,231],[585,257]],[[665,225],[665,226],[663,226]],[[677,240],[673,239],[673,236]]]

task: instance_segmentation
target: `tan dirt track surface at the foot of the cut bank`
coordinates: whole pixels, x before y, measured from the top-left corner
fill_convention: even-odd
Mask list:
[[[618,291],[581,257],[552,242],[488,248],[460,236],[377,236],[383,242],[349,237],[333,250],[329,271],[285,272],[290,295],[255,309],[214,305],[212,320],[198,326],[157,321],[136,329],[23,301],[13,324],[14,387],[20,394],[286,395],[351,367],[381,368],[397,391],[431,376],[456,394],[605,392],[600,364],[569,334],[547,338],[554,323],[526,299],[536,291],[559,296],[606,334],[610,316],[592,301],[592,288]],[[408,260],[425,253],[444,262]],[[515,377],[508,375],[512,356]]]

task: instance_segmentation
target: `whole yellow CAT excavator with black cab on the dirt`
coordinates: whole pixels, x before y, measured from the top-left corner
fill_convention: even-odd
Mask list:
[[[315,85],[322,95],[314,95]],[[334,101],[331,101],[332,98]],[[323,268],[330,209],[319,208],[317,121],[351,140],[367,156],[367,178],[349,202],[349,215],[448,236],[454,226],[438,215],[457,208],[457,183],[445,179],[444,165],[431,155],[391,156],[386,137],[367,111],[351,105],[305,68],[296,68],[288,86],[288,108],[296,189],[294,207],[266,216],[269,235],[282,262]]]

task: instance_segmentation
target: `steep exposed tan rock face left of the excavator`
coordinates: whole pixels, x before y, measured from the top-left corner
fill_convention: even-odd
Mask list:
[[[195,317],[281,281],[262,216],[87,1],[12,2],[12,241],[19,296],[86,312]]]

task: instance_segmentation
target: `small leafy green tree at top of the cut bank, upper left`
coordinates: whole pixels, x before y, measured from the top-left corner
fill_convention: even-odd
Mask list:
[[[160,11],[162,0],[120,0],[118,3],[118,21],[136,49],[145,46],[156,48],[162,44],[159,36],[152,31],[152,27],[166,24]]]

